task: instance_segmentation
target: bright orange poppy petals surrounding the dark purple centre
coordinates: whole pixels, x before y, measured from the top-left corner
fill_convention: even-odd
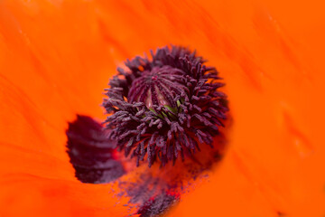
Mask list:
[[[224,156],[207,178],[186,180],[189,193],[166,216],[324,215],[321,8],[317,1],[2,1],[0,215],[137,211],[119,194],[135,189],[129,180],[148,175],[148,166],[125,158],[119,183],[82,183],[65,131],[78,114],[96,128],[107,118],[100,105],[116,68],[166,44],[196,50],[218,69],[230,110]],[[166,194],[141,209],[178,197]]]

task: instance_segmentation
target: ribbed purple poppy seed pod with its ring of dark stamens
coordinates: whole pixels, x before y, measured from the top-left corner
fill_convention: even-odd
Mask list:
[[[110,80],[106,126],[125,156],[146,156],[162,165],[212,146],[228,111],[227,96],[218,91],[218,71],[188,49],[164,47],[152,60],[135,57]]]

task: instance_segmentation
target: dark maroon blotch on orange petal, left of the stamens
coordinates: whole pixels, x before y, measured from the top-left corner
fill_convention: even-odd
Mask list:
[[[107,132],[94,119],[78,116],[69,124],[68,155],[82,183],[109,183],[125,174],[123,165],[116,160],[115,142],[107,139]]]

